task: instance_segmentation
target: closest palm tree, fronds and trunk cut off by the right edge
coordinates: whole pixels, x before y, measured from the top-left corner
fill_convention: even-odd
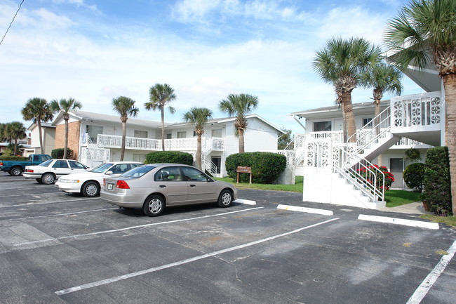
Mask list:
[[[446,145],[450,158],[452,213],[456,216],[456,1],[413,0],[389,20],[384,41],[401,70],[434,62],[445,89]],[[429,54],[431,56],[429,56]]]

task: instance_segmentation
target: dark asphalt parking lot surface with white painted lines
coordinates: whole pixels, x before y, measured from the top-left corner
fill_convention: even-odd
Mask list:
[[[0,173],[0,303],[455,303],[455,229],[297,193],[239,197],[256,204],[149,218]]]

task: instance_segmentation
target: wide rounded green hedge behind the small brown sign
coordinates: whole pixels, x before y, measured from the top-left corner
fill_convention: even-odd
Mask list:
[[[286,157],[282,154],[271,152],[248,152],[237,153],[227,157],[225,161],[227,173],[230,178],[236,180],[237,166],[249,166],[252,168],[252,180],[257,184],[270,184],[279,178],[286,167]],[[250,174],[242,173],[239,180],[248,183]]]

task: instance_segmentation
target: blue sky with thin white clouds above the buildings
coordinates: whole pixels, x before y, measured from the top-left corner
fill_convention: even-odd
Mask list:
[[[3,37],[22,0],[0,3]],[[332,86],[311,68],[331,37],[363,37],[381,45],[401,0],[25,0],[0,45],[0,122],[23,121],[29,98],[75,98],[81,110],[115,114],[112,99],[136,100],[138,118],[149,87],[175,88],[182,121],[193,106],[224,117],[217,104],[230,93],[256,95],[259,114],[303,132],[291,112],[334,105]],[[422,89],[404,78],[404,94]],[[356,88],[353,103],[370,102]],[[389,98],[385,96],[384,98]],[[24,121],[28,127],[31,121]]]

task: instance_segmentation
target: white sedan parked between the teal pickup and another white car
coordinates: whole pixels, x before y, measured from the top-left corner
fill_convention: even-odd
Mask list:
[[[88,166],[71,159],[49,159],[38,166],[26,166],[22,176],[35,178],[40,184],[51,185],[60,176],[70,173],[85,172]]]

